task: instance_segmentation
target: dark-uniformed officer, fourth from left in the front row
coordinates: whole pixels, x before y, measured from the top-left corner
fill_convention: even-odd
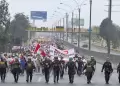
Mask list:
[[[44,72],[45,72],[45,80],[46,80],[46,83],[48,83],[49,76],[50,76],[51,62],[47,57],[43,61],[43,68],[44,68]]]

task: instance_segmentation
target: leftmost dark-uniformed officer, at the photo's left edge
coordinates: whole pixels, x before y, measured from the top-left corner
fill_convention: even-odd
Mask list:
[[[7,68],[7,61],[5,59],[1,58],[0,61],[0,76],[1,76],[1,82],[5,82],[6,77],[6,68]]]

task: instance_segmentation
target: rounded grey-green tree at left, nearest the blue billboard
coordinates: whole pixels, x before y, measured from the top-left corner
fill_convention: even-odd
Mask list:
[[[27,40],[26,29],[30,26],[28,17],[23,13],[17,13],[11,21],[10,32],[15,44],[20,44],[22,40]],[[20,43],[18,43],[20,42]]]

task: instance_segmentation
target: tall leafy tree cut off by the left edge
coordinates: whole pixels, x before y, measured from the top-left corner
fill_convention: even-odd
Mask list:
[[[10,41],[9,34],[10,14],[6,0],[0,1],[0,51],[5,51],[5,47]]]

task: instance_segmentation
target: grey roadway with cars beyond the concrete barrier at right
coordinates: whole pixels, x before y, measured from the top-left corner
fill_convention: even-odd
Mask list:
[[[77,40],[76,40],[76,41],[77,41]],[[68,38],[68,42],[71,43],[71,39],[70,39],[70,38]],[[81,48],[82,48],[82,45],[85,44],[85,43],[88,44],[88,40],[84,40],[84,41],[80,42]],[[78,46],[78,45],[76,45],[76,46]],[[88,50],[88,48],[84,48],[84,49],[87,49],[87,50]],[[91,50],[92,50],[92,51],[96,51],[96,52],[107,53],[107,49],[106,49],[106,48],[97,47],[97,46],[95,46],[95,45],[91,45]],[[120,55],[120,52],[111,50],[111,54]]]

